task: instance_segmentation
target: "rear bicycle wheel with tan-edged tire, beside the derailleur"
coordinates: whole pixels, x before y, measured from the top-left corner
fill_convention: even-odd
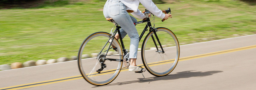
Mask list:
[[[107,65],[101,73],[98,73],[96,70],[101,68],[101,64],[99,63],[99,59],[96,57],[83,59],[83,54],[89,53],[99,53],[103,48],[103,51],[99,53],[100,55],[104,55],[106,53],[106,49],[108,49],[109,43],[108,39],[111,34],[107,32],[95,32],[89,35],[81,44],[79,52],[78,52],[78,67],[83,78],[91,83],[92,85],[107,85],[112,82],[120,73],[123,62],[122,61],[108,61],[105,60],[104,64]],[[112,38],[111,38],[112,39]],[[103,45],[102,45],[103,44]],[[106,45],[105,45],[106,44]],[[118,56],[107,55],[108,57],[115,57],[117,59],[123,59],[123,51],[119,42],[114,38],[112,44],[117,47]],[[105,47],[104,47],[105,46]],[[101,49],[100,49],[101,48]],[[115,52],[113,49],[109,49],[109,51]],[[110,52],[108,52],[109,54]],[[95,63],[96,61],[96,63]]]

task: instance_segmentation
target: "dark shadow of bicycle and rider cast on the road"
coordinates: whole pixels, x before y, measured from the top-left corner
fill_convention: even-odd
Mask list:
[[[212,75],[214,73],[220,73],[223,71],[207,71],[207,72],[191,72],[191,71],[195,71],[195,70],[189,70],[189,71],[183,71],[183,72],[178,72],[177,74],[170,74],[167,76],[161,76],[161,77],[149,77],[149,78],[138,78],[139,80],[135,80],[135,81],[127,81],[127,82],[117,82],[114,84],[108,84],[105,86],[112,86],[112,85],[123,85],[123,84],[130,84],[130,83],[134,83],[134,82],[153,82],[153,81],[158,81],[158,80],[172,80],[172,79],[179,79],[179,78],[189,78],[189,77],[195,77],[195,76],[199,76],[199,77],[203,77],[203,76],[209,76]],[[95,87],[104,87],[104,86],[95,86]]]

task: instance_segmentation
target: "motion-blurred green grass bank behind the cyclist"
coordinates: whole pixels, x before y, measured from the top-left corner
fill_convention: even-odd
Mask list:
[[[76,56],[88,35],[112,29],[113,24],[103,16],[104,4],[0,10],[0,64]],[[164,22],[156,18],[156,27],[172,30],[181,45],[256,34],[256,6],[242,1],[180,0],[157,6],[161,10],[170,7],[173,18]],[[140,5],[139,9],[145,8]],[[144,26],[136,26],[139,34]],[[129,41],[129,37],[124,39],[126,48]]]

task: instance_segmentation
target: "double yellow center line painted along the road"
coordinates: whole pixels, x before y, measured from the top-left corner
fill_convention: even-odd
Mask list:
[[[235,49],[228,49],[228,50],[223,50],[223,51],[218,51],[218,52],[211,52],[211,53],[200,54],[200,55],[194,55],[194,56],[188,56],[188,57],[183,57],[183,58],[179,58],[179,61],[191,60],[191,59],[195,59],[195,58],[203,58],[203,57],[219,55],[219,54],[224,54],[224,53],[229,53],[229,52],[236,52],[236,51],[241,51],[241,50],[246,50],[246,49],[253,49],[253,48],[256,48],[256,45],[245,46],[245,47],[240,47],[240,48],[235,48]],[[171,60],[174,60],[174,59],[171,59]],[[150,63],[151,64],[150,66],[156,66],[156,65],[161,65],[161,64],[172,63],[173,61],[171,61],[171,60],[165,60],[165,61],[158,61],[158,62]],[[166,61],[168,61],[168,62],[166,62]],[[140,64],[138,66],[141,66],[141,65],[143,65],[143,64]],[[121,72],[127,71],[127,70],[128,69],[122,69]],[[104,73],[104,74],[109,74],[109,73],[114,73],[114,71],[113,72]],[[104,75],[104,74],[102,74],[102,75]],[[14,85],[14,86],[0,88],[0,90],[17,90],[17,89],[23,89],[23,88],[31,88],[31,87],[41,86],[41,85],[53,84],[53,83],[58,83],[58,82],[66,82],[66,81],[82,79],[82,78],[83,78],[82,75],[70,76],[70,77],[46,80],[46,81],[41,81],[41,82],[33,82],[33,83],[27,83],[27,84],[21,84],[21,85]]]

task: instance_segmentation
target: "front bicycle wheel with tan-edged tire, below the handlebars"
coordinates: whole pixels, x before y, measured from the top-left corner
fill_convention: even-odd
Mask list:
[[[152,75],[165,76],[173,71],[177,65],[180,56],[180,46],[178,39],[172,31],[162,27],[156,29],[156,34],[163,50],[154,32],[149,32],[142,44],[142,62]],[[155,40],[155,43],[153,40]]]

